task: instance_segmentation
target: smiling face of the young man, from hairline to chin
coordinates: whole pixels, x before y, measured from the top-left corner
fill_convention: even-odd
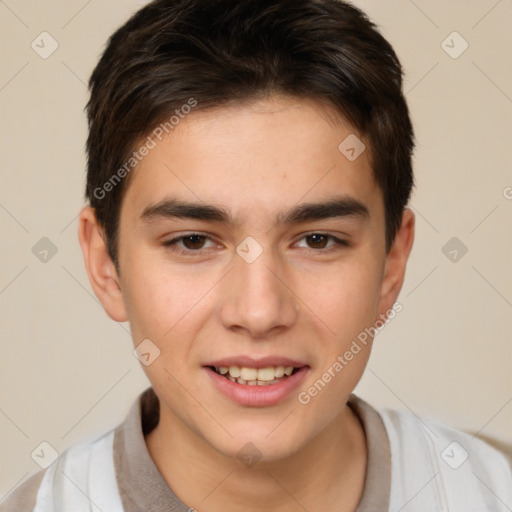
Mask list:
[[[364,138],[335,117],[287,97],[193,112],[123,199],[111,316],[159,351],[143,368],[162,421],[216,453],[278,460],[325,431],[371,339],[344,354],[401,286],[368,151],[338,149]]]

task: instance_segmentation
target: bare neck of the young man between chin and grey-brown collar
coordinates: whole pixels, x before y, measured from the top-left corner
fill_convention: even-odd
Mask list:
[[[198,512],[353,512],[361,499],[367,446],[348,406],[300,451],[253,467],[219,454],[183,427],[161,410],[146,444],[169,487]]]

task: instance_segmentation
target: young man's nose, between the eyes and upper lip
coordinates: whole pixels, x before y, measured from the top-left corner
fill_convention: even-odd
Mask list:
[[[223,280],[220,318],[226,329],[252,338],[267,338],[297,320],[298,299],[279,258],[266,249],[252,263],[235,255]]]

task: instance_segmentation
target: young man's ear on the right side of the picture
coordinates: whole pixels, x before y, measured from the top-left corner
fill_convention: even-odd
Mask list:
[[[385,315],[398,298],[405,277],[405,267],[414,241],[414,213],[405,209],[402,224],[386,256],[381,285],[379,314]]]

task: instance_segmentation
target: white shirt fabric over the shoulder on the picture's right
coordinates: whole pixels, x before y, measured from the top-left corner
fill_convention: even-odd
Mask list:
[[[504,453],[433,418],[390,408],[378,413],[389,438],[392,494],[398,504],[425,486],[415,500],[425,495],[425,503],[435,503],[438,510],[512,506],[512,468]]]

